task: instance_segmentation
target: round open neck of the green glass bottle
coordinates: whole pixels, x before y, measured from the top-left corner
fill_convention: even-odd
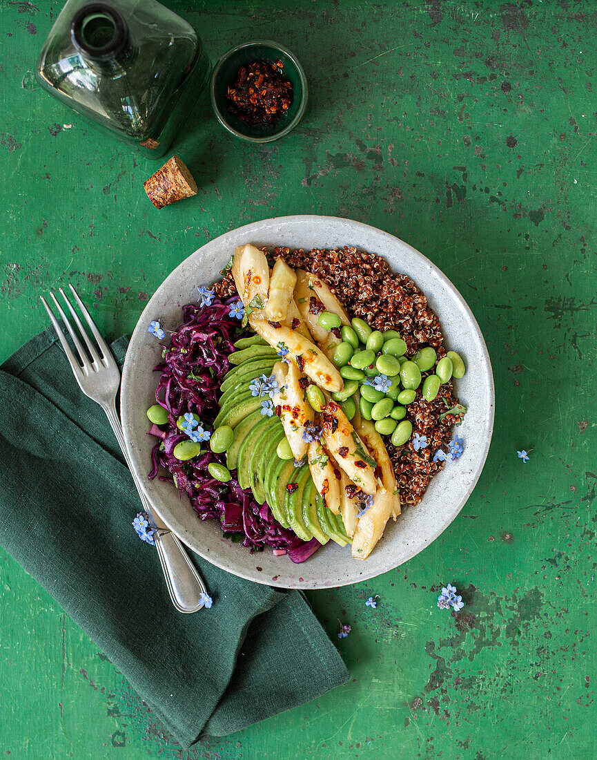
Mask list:
[[[71,41],[90,66],[106,73],[122,70],[132,57],[126,21],[105,2],[79,8],[71,21]]]

